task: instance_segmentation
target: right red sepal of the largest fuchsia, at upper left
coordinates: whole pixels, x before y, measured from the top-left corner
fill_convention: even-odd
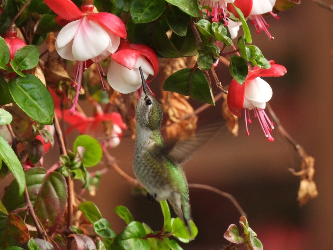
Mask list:
[[[116,15],[107,12],[89,13],[89,18],[95,20],[104,28],[115,33],[117,36],[122,38],[127,37],[125,24],[122,19]]]

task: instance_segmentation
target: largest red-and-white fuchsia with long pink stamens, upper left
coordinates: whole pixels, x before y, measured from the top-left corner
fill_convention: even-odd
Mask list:
[[[81,10],[71,0],[44,0],[44,2],[58,14],[55,18],[56,23],[66,25],[57,36],[58,54],[64,59],[76,61],[73,79],[74,82],[78,79],[78,87],[73,106],[69,111],[74,115],[83,69],[87,69],[87,63],[91,64],[90,60],[99,64],[102,69],[100,59],[116,52],[120,38],[127,37],[125,24],[111,13],[93,13],[93,0],[84,0]],[[103,84],[101,73],[100,77]]]

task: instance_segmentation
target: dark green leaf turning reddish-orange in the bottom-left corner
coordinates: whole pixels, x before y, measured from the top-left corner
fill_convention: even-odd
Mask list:
[[[29,240],[29,231],[17,214],[0,211],[0,250],[10,246],[22,246]]]

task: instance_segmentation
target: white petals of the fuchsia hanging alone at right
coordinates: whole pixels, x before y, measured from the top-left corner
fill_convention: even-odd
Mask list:
[[[262,103],[268,102],[272,98],[272,95],[272,88],[260,77],[246,81],[245,97],[247,99]]]

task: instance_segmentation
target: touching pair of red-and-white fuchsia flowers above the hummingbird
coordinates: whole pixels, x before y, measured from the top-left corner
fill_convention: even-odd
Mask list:
[[[44,0],[56,13],[56,23],[65,26],[56,40],[58,54],[67,60],[76,61],[74,66],[74,87],[77,81],[77,91],[70,115],[74,115],[81,88],[82,72],[92,63],[96,63],[102,81],[106,76],[100,60],[112,54],[113,61],[109,67],[108,81],[121,93],[130,93],[140,87],[142,68],[145,79],[149,75],[156,76],[158,60],[152,49],[145,45],[130,44],[124,22],[111,13],[94,13],[93,0],[84,0],[81,10],[71,0]],[[120,48],[119,48],[120,47]],[[119,51],[116,53],[117,49]],[[102,74],[101,74],[102,71]]]

